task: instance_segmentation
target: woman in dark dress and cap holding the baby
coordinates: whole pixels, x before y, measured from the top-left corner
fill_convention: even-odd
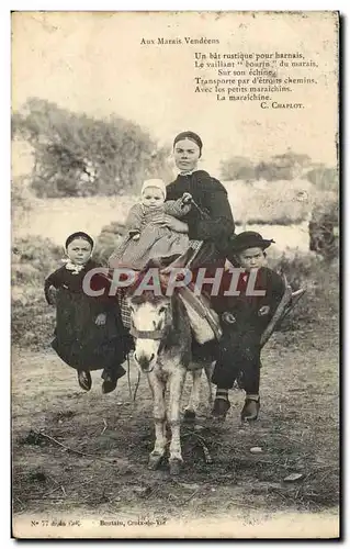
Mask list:
[[[206,171],[197,169],[202,148],[202,139],[194,132],[182,132],[173,141],[179,175],[167,187],[167,200],[177,200],[189,192],[194,204],[181,221],[167,221],[174,231],[188,233],[190,240],[204,242],[200,266],[212,270],[225,264],[235,223],[225,187]]]

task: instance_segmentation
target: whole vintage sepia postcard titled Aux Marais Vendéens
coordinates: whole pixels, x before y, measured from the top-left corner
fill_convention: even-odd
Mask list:
[[[12,13],[13,537],[339,537],[339,26]]]

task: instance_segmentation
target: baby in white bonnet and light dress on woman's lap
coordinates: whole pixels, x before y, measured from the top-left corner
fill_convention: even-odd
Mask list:
[[[191,210],[191,194],[166,201],[166,184],[161,179],[144,182],[140,200],[128,212],[127,234],[110,257],[112,268],[129,267],[142,270],[150,259],[170,262],[189,247],[188,235],[171,228],[174,217]]]

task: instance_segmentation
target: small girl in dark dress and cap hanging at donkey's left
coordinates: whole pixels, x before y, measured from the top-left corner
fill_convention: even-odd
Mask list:
[[[54,304],[50,287],[56,294],[56,329],[52,347],[78,373],[81,389],[91,389],[91,370],[103,368],[102,392],[109,393],[124,376],[121,363],[129,350],[129,340],[123,327],[117,301],[108,296],[94,298],[84,293],[82,283],[87,272],[99,264],[91,259],[92,238],[82,232],[66,240],[68,261],[45,280],[45,296]],[[106,284],[92,277],[93,289]]]

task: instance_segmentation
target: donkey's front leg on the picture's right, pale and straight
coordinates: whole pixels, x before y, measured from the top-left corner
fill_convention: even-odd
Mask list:
[[[169,446],[170,473],[177,474],[182,464],[181,440],[180,440],[180,403],[183,384],[185,380],[185,368],[179,367],[171,373],[169,380],[169,413],[168,423],[171,428],[171,441]]]

